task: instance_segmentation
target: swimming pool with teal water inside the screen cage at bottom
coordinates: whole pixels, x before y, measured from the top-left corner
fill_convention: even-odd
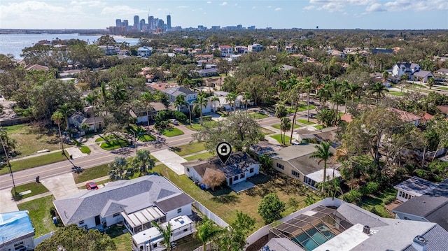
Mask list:
[[[325,229],[326,231],[318,231],[317,229]],[[308,231],[295,236],[291,241],[299,244],[302,248],[311,251],[322,245],[326,241],[330,240],[330,238],[335,237],[336,235],[325,226],[325,224],[320,224],[317,227],[313,227]],[[311,238],[310,238],[311,236]]]

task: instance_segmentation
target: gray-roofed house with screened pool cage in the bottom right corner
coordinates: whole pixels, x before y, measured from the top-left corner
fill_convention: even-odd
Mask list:
[[[262,237],[267,236],[266,239]],[[379,217],[352,203],[326,198],[248,237],[267,251],[448,250],[439,224]]]

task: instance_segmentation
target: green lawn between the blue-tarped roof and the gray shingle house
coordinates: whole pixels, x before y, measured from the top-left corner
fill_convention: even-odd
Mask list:
[[[52,208],[52,201],[55,197],[52,195],[43,198],[34,199],[25,203],[18,204],[19,210],[28,210],[29,218],[36,230],[36,237],[48,234],[51,231],[57,230],[50,215],[50,208]]]

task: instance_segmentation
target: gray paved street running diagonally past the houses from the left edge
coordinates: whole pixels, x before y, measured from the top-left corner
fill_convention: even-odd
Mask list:
[[[301,115],[306,114],[305,112],[297,113],[297,116],[300,117]],[[292,117],[292,116],[291,116]],[[279,119],[276,117],[266,117],[264,119],[258,120],[258,123],[262,127],[267,127],[272,124],[278,124]],[[183,126],[179,126],[183,127]],[[156,148],[154,145],[138,145],[138,149],[147,149],[151,152],[156,152],[162,149],[168,148],[168,146],[179,146],[179,145],[185,145],[187,143],[190,143],[192,139],[192,134],[195,134],[195,131],[190,131],[186,129],[185,127],[181,128],[185,134],[181,136],[175,136],[173,138],[165,137],[166,144],[160,144]],[[87,155],[85,157],[80,157],[78,159],[73,159],[71,162],[69,160],[66,160],[64,162],[57,162],[53,164],[48,164],[45,166],[38,166],[35,168],[29,168],[22,171],[14,172],[14,181],[15,185],[22,185],[29,182],[36,181],[36,175],[39,175],[41,179],[54,177],[56,175],[61,175],[63,173],[69,173],[71,172],[71,167],[74,165],[81,166],[82,168],[92,168],[94,166],[99,166],[101,164],[109,164],[115,159],[115,157],[132,157],[135,156],[135,150],[133,148],[124,148],[125,151],[123,152],[116,152],[113,153],[111,151],[109,152],[99,152],[92,155]],[[73,163],[73,164],[72,164]],[[1,175],[0,176],[0,189],[7,189],[13,187],[13,181],[10,178],[9,174]]]

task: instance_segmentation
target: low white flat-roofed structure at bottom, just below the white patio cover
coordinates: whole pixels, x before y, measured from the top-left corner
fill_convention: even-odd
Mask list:
[[[169,220],[169,222],[160,224],[160,227],[165,228],[167,227],[167,224],[170,224],[172,231],[171,238],[169,240],[170,242],[174,242],[180,238],[189,236],[196,231],[195,222],[190,220],[190,218],[186,215],[175,217],[172,220]],[[165,239],[163,234],[159,231],[159,229],[157,227],[151,227],[151,229],[146,229],[132,236],[132,250],[165,250],[163,244],[164,241]]]

